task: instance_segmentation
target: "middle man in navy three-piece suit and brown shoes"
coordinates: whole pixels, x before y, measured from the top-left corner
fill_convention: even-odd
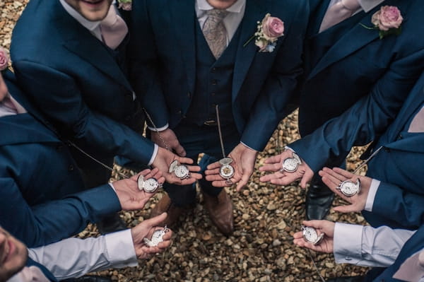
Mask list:
[[[283,21],[284,35],[275,49],[259,52],[255,40],[249,39],[266,13]],[[229,153],[235,168],[230,182],[241,189],[295,89],[307,13],[305,1],[134,1],[130,76],[136,89],[146,88],[139,78],[151,78],[143,105],[150,116],[146,122],[152,140],[160,146],[165,141],[179,155],[194,160],[206,153],[205,165]],[[211,22],[215,28],[210,28]],[[211,34],[214,40],[208,39]],[[215,52],[218,43],[221,49]],[[218,179],[218,188],[207,181],[200,184],[213,223],[229,235],[232,203],[220,188],[229,184]],[[172,210],[169,222],[174,222],[183,207],[194,203],[196,191],[192,186],[165,189],[169,196],[152,215]]]

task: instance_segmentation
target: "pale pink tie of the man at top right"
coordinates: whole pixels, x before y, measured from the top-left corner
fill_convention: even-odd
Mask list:
[[[319,32],[331,28],[333,25],[340,23],[346,18],[350,18],[355,11],[360,8],[358,0],[340,0],[333,6],[331,6],[325,13],[324,19],[321,23]]]

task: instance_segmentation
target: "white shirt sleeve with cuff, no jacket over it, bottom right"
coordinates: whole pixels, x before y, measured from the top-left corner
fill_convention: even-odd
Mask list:
[[[416,231],[336,223],[334,259],[338,264],[391,266],[413,233]]]

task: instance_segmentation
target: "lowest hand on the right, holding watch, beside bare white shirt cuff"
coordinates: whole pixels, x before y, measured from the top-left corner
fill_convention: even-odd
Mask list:
[[[317,230],[318,235],[324,233],[325,236],[319,242],[319,244],[314,245],[310,242],[306,242],[302,237],[302,231],[297,232],[293,235],[293,243],[300,247],[306,247],[317,252],[326,252],[331,254],[334,250],[334,222],[331,221],[303,221],[303,225],[310,226]]]

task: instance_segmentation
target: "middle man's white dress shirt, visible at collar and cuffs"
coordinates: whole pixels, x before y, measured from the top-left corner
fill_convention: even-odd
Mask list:
[[[206,0],[196,0],[196,3],[194,4],[194,9],[196,11],[197,20],[199,20],[200,28],[202,28],[204,26],[206,18],[208,18],[206,11],[212,10],[213,6],[208,4],[208,1]],[[245,9],[246,9],[246,0],[238,0],[237,2],[235,2],[235,4],[232,4],[232,6],[226,9],[226,11],[230,12],[223,19],[225,30],[227,31],[227,45],[228,43],[230,43],[232,37],[235,35],[235,32],[237,31],[238,26],[242,22],[243,16],[245,16]],[[163,127],[158,127],[158,128],[148,127],[148,129],[150,129],[151,131],[156,131],[156,130],[163,131],[167,129],[168,127],[169,127],[169,124],[165,124]]]

